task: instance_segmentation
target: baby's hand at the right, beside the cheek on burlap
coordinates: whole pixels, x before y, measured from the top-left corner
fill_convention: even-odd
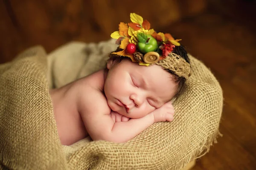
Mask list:
[[[154,122],[171,122],[173,120],[174,108],[172,102],[166,102],[160,108],[157,108],[153,112],[154,114]]]

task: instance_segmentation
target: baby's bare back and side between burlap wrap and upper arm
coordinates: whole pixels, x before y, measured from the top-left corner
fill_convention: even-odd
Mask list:
[[[88,134],[77,108],[76,82],[50,91],[61,144],[70,145]]]

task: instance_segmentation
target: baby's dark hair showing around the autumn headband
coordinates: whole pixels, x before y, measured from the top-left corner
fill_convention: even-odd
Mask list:
[[[115,52],[120,51],[120,50],[122,50],[122,49],[117,48]],[[186,50],[183,46],[181,46],[181,45],[180,46],[175,46],[175,48],[173,48],[172,52],[179,55],[180,57],[185,59],[186,62],[189,63],[189,57],[188,57],[187,52],[186,52]],[[110,57],[111,57],[110,59],[117,60],[118,62],[121,62],[122,59],[127,58],[127,57],[119,57],[119,56],[115,56],[115,55],[111,55]],[[186,78],[185,77],[179,77],[173,71],[170,71],[170,70],[166,70],[166,71],[168,71],[170,74],[173,75],[173,79],[174,79],[175,83],[177,84],[177,89],[176,89],[176,93],[175,93],[175,96],[174,96],[174,98],[177,98],[184,90],[184,85],[185,85],[185,82],[186,82]]]

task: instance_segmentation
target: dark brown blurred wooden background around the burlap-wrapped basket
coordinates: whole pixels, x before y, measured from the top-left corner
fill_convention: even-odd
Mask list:
[[[3,0],[0,63],[35,44],[50,52],[71,40],[108,40],[136,12],[152,28],[183,39],[223,88],[223,137],[193,170],[255,170],[255,11],[255,0]]]

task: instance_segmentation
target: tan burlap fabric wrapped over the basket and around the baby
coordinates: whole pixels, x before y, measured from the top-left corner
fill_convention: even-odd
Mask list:
[[[192,56],[192,76],[174,102],[173,122],[155,123],[125,144],[87,138],[61,145],[49,88],[105,67],[115,48],[112,40],[71,42],[47,57],[37,46],[0,65],[1,170],[179,170],[209,150],[219,134],[222,91],[209,69]]]

